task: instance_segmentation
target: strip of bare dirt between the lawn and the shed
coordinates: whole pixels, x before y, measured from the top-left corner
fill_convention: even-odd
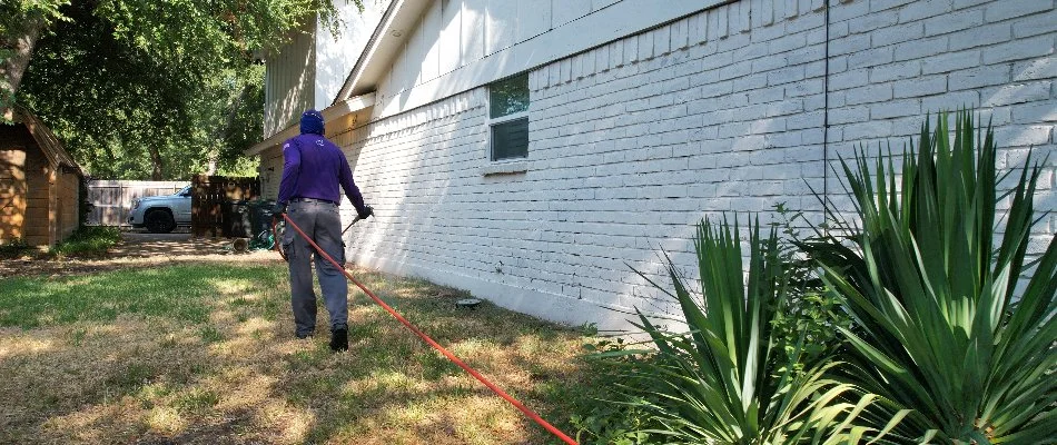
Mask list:
[[[231,238],[196,238],[190,234],[121,233],[121,241],[102,258],[0,259],[0,278],[85,275],[117,269],[151,268],[177,263],[283,261],[268,250],[236,251]]]

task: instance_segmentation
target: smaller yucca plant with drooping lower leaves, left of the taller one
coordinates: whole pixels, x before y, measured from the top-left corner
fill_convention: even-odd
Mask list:
[[[675,444],[844,443],[877,435],[883,426],[852,425],[873,396],[849,403],[852,385],[826,377],[837,363],[794,369],[797,354],[782,349],[772,327],[790,291],[778,236],[771,229],[761,239],[759,220],[750,228],[745,276],[737,226],[725,219],[698,226],[700,296],[671,261],[674,293],[640,273],[678,300],[689,328],[666,332],[639,313],[636,326],[650,335],[655,354],[631,362],[623,388],[660,425],[648,432]]]

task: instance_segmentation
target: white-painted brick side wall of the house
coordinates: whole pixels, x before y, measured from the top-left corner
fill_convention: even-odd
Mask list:
[[[620,310],[666,310],[628,266],[663,280],[663,249],[695,277],[705,216],[787,202],[819,220],[823,176],[847,201],[823,159],[901,147],[926,112],[978,107],[1000,168],[1055,151],[1054,0],[828,1],[828,82],[823,0],[743,0],[532,70],[524,172],[487,175],[484,88],[344,134],[377,214],[349,258],[616,327]]]

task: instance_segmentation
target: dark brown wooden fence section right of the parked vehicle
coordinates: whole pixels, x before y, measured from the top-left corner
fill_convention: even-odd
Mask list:
[[[238,237],[241,218],[231,219],[231,202],[245,202],[260,197],[257,177],[227,177],[199,175],[191,187],[191,235]],[[245,208],[244,208],[245,210]],[[238,215],[238,216],[241,216]],[[246,215],[248,218],[248,215]]]

